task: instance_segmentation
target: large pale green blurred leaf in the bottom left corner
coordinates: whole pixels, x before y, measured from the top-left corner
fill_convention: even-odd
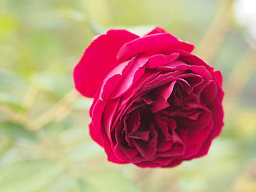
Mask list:
[[[0,189],[1,192],[41,190],[54,182],[63,170],[62,165],[49,159],[18,162],[2,171]]]

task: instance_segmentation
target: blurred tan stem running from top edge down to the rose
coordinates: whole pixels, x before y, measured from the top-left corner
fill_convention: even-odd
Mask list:
[[[196,50],[196,54],[207,62],[213,61],[226,33],[230,30],[231,8],[234,0],[221,0],[219,3],[220,5],[218,6],[214,19],[205,36],[202,38],[198,50]]]

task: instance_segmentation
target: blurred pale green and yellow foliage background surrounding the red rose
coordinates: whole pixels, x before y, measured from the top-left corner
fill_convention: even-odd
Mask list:
[[[254,0],[0,0],[0,191],[256,191]],[[225,126],[171,169],[107,162],[72,70],[96,34],[155,25],[222,70]]]

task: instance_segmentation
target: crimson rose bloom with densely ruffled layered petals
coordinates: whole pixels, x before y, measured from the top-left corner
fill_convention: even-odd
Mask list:
[[[207,154],[223,126],[222,74],[160,27],[109,30],[74,68],[90,107],[90,136],[110,162],[171,167]],[[210,47],[209,47],[210,49]]]

